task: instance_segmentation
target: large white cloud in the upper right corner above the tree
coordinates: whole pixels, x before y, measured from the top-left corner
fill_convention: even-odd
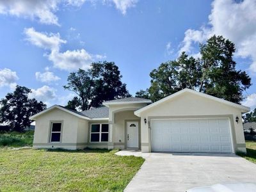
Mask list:
[[[223,35],[236,44],[236,55],[251,58],[250,71],[256,72],[256,1],[214,0],[209,24],[199,30],[188,29],[180,51],[193,52],[195,43],[204,42],[212,35]]]

